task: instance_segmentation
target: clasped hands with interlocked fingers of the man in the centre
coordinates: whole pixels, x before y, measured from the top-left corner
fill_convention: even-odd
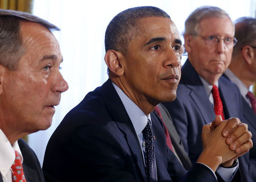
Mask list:
[[[246,123],[238,118],[222,121],[220,115],[208,125],[203,126],[203,152],[197,162],[204,163],[215,172],[221,164],[232,166],[234,159],[245,154],[253,147],[252,134]]]

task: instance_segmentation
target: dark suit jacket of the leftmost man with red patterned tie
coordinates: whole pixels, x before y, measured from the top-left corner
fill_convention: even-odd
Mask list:
[[[23,156],[23,171],[27,182],[44,182],[42,168],[35,155],[35,152],[28,146],[23,139],[18,140],[20,151]],[[0,173],[0,182],[2,182]]]

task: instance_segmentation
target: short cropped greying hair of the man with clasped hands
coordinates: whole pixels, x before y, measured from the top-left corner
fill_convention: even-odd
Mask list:
[[[153,6],[133,7],[117,14],[109,23],[105,33],[105,49],[113,49],[124,54],[133,35],[137,33],[137,22],[141,18],[170,16]]]

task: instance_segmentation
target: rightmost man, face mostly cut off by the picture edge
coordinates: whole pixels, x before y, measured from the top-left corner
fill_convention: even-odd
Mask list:
[[[238,40],[233,49],[232,60],[224,76],[228,77],[237,85],[242,96],[243,122],[248,124],[253,134],[253,141],[256,141],[256,98],[249,91],[251,85],[256,83],[256,19],[241,17],[236,20],[235,36]],[[256,147],[250,150],[250,175],[256,181]]]

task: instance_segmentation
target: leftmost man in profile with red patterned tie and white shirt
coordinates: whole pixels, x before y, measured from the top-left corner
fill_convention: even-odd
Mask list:
[[[44,181],[34,151],[20,139],[51,126],[54,106],[68,89],[53,24],[0,10],[0,181]]]

